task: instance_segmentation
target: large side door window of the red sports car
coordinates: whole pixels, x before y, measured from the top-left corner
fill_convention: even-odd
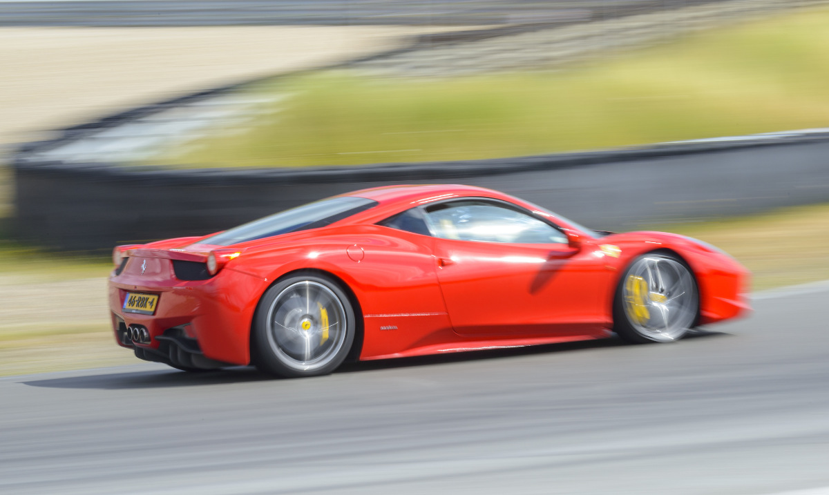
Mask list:
[[[481,200],[435,204],[426,209],[435,236],[487,243],[567,243],[557,228],[515,209]]]

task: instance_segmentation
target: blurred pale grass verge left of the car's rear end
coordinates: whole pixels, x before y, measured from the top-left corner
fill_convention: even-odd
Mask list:
[[[111,269],[0,240],[0,376],[134,363],[109,331]]]

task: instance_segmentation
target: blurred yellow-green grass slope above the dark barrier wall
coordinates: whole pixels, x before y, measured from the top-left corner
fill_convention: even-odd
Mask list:
[[[829,124],[829,10],[704,31],[557,72],[277,79],[246,132],[172,151],[178,166],[319,166],[534,155]]]

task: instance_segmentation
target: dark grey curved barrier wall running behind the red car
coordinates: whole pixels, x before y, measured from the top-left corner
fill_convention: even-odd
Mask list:
[[[71,139],[77,128],[63,139]],[[716,219],[829,201],[829,130],[497,160],[301,169],[126,167],[12,161],[16,233],[62,250],[199,235],[314,199],[390,184],[503,190],[594,228]]]

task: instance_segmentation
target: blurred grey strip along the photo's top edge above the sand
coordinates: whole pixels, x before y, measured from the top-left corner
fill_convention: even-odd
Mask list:
[[[0,26],[573,22],[722,0],[0,0]]]

